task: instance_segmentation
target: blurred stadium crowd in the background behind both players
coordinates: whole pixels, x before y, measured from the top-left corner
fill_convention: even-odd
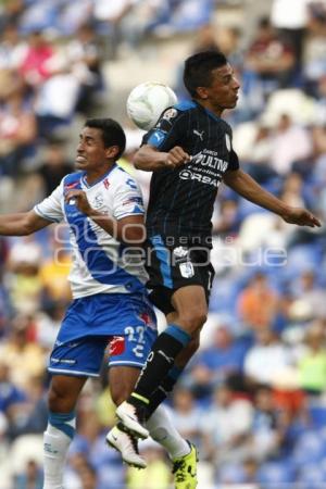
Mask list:
[[[246,20],[236,21],[241,9],[248,14],[241,0],[0,2],[1,212],[30,209],[72,172],[71,125],[116,97],[104,76],[108,63],[123,62],[126,49],[137,57],[146,42],[164,45],[183,35],[189,55],[220,48],[235,67],[241,96],[226,118],[241,167],[325,223],[326,2],[267,3],[262,16],[251,12],[249,36]],[[226,9],[228,22],[221,26],[215,21]],[[179,100],[187,98],[181,61],[171,79]],[[150,62],[160,62],[159,51]],[[128,138],[121,164],[134,172],[147,199],[150,175],[130,165],[141,133],[118,116]],[[321,487],[325,225],[288,225],[223,187],[213,237],[216,275],[201,349],[167,402],[176,427],[198,444],[199,489]],[[64,226],[0,238],[0,489],[42,487],[46,365],[71,300],[70,264]],[[82,394],[65,487],[170,488],[170,462],[154,442],[140,446],[146,472],[127,469],[105,447],[114,422],[106,377],[103,365]]]

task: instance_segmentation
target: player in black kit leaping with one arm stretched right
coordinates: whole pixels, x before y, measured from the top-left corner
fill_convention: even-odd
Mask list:
[[[240,88],[224,54],[206,51],[187,59],[184,83],[192,100],[163,112],[134,160],[137,168],[153,172],[147,215],[149,289],[167,318],[135,391],[116,411],[124,428],[140,438],[148,436],[143,419],[172,390],[199,346],[214,274],[211,218],[221,183],[287,223],[321,226],[308,210],[285,204],[240,170],[231,128],[221,118],[236,106]],[[185,466],[178,487],[196,487],[191,471]]]

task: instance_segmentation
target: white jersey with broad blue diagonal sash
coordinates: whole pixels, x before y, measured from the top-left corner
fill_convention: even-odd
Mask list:
[[[91,218],[78,211],[74,201],[65,202],[70,189],[86,192],[90,205],[115,220],[143,214],[143,203],[136,180],[120,166],[99,181],[87,184],[85,172],[63,178],[60,186],[38,203],[34,211],[46,220],[70,226],[73,265],[68,275],[74,299],[95,293],[143,293],[148,279],[141,252],[110,236]]]

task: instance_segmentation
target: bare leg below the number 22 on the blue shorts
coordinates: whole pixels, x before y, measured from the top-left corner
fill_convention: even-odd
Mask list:
[[[139,367],[116,365],[109,368],[110,392],[116,405],[120,405],[133,392],[139,374]]]

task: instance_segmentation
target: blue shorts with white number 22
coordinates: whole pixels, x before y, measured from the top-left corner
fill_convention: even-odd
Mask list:
[[[158,336],[147,297],[98,293],[68,306],[50,355],[52,374],[98,377],[109,366],[141,368]]]

